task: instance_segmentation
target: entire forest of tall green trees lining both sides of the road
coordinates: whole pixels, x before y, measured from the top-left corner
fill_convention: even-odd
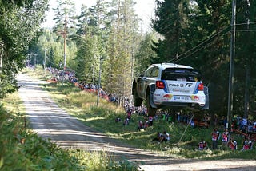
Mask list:
[[[174,62],[200,70],[209,87],[212,117],[226,116],[230,73],[232,1],[156,0],[152,30],[143,30],[133,0],[98,0],[81,6],[58,0],[55,26],[42,29],[48,0],[0,0],[0,98],[18,89],[23,67],[72,70],[81,82],[98,83],[131,97],[134,77],[150,64]],[[233,115],[256,116],[256,2],[236,0]]]

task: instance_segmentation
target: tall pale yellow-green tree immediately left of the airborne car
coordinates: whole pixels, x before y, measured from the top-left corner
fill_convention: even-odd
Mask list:
[[[112,26],[109,37],[106,89],[116,93],[119,99],[130,96],[134,40],[138,33],[138,16],[134,14],[134,2],[130,0],[113,1]]]

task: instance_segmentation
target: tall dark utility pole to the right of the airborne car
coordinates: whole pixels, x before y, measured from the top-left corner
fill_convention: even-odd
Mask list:
[[[232,2],[232,19],[231,19],[231,38],[230,38],[230,78],[229,78],[229,96],[226,129],[230,129],[233,117],[233,85],[234,85],[234,55],[235,55],[235,16],[236,0]]]

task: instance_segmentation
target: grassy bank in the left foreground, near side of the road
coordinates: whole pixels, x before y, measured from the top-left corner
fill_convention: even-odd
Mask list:
[[[27,125],[18,92],[0,101],[0,170],[135,170],[137,167],[127,161],[113,161],[103,151],[61,149],[42,140]]]

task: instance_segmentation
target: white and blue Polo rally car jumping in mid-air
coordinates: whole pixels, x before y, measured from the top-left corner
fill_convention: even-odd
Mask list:
[[[134,78],[133,96],[135,106],[146,100],[151,116],[160,108],[209,109],[208,89],[198,70],[174,63],[153,64],[144,74]]]

